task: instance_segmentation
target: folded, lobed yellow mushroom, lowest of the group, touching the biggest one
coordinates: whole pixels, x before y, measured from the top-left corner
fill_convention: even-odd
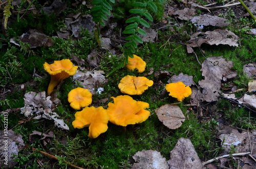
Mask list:
[[[89,137],[96,138],[108,130],[109,115],[106,110],[100,107],[86,107],[75,113],[75,120],[72,122],[74,128],[81,129],[89,126]]]

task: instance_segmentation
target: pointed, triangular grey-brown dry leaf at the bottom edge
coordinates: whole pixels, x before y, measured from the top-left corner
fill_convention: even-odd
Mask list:
[[[203,168],[193,144],[187,138],[180,138],[177,141],[174,149],[170,152],[170,159],[167,162],[170,169]]]

